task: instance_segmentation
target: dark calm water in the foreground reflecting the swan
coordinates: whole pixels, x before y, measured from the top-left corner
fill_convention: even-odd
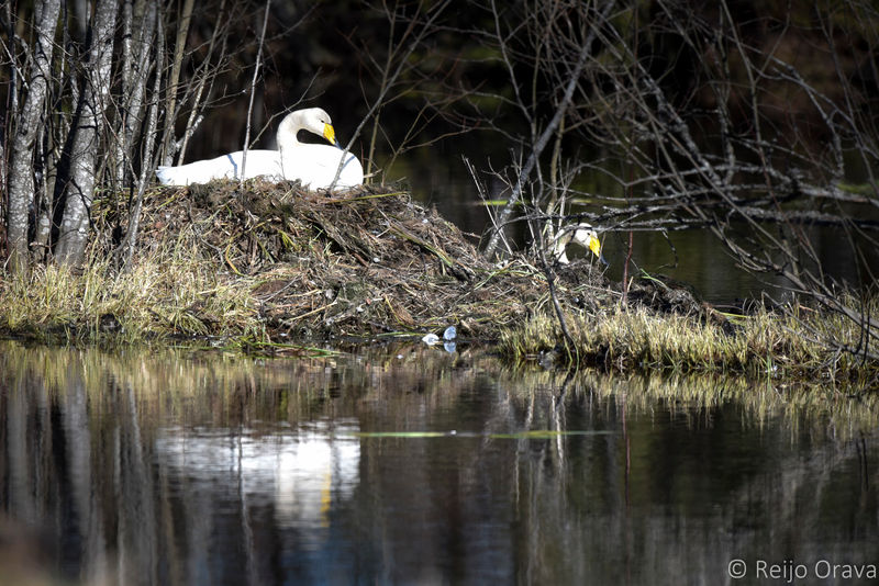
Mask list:
[[[461,350],[0,342],[0,584],[876,583],[875,397]]]

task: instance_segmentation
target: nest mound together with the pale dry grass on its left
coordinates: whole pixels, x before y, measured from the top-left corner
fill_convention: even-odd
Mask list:
[[[275,343],[420,337],[455,325],[459,336],[490,340],[549,303],[533,264],[488,262],[476,237],[400,190],[309,192],[260,180],[155,188],[125,271],[113,268],[110,235],[122,233],[113,228],[126,207],[93,216],[104,236],[80,273],[49,264],[7,283],[3,296],[22,298],[0,322],[8,334]],[[575,266],[565,304],[600,306],[603,278],[588,262]]]

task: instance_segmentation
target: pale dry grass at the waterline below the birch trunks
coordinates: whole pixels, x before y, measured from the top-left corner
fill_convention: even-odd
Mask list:
[[[118,272],[92,251],[81,272],[56,264],[0,283],[0,330],[44,341],[247,336],[257,316],[247,280],[227,281],[170,249]]]

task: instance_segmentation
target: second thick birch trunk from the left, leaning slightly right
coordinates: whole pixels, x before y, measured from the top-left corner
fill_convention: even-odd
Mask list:
[[[116,0],[98,0],[91,26],[91,46],[86,65],[86,83],[78,105],[76,133],[70,151],[70,182],[64,204],[55,256],[62,264],[76,266],[82,260],[89,234],[89,212],[94,196],[94,171],[103,129]]]

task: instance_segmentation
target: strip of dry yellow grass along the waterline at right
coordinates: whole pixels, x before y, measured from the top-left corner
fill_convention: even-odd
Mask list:
[[[874,304],[870,311],[874,319],[879,317],[879,306]],[[558,323],[541,315],[504,331],[500,350],[520,361],[549,354],[615,371],[745,373],[861,387],[871,386],[879,375],[869,360],[820,342],[833,339],[854,348],[861,334],[854,322],[802,305],[779,313],[759,308],[735,317],[734,324],[645,307],[568,314],[567,323],[575,349],[560,348]]]

